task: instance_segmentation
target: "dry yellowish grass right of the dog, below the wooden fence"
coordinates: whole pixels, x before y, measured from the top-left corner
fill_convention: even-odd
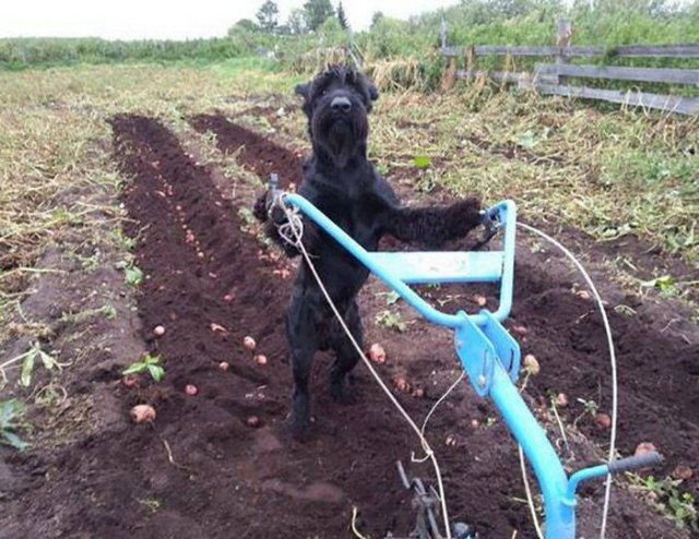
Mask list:
[[[635,233],[699,261],[698,118],[604,112],[474,87],[427,101],[384,96],[377,108],[375,158],[406,166],[426,155],[454,194],[509,196],[525,218],[601,241]]]

